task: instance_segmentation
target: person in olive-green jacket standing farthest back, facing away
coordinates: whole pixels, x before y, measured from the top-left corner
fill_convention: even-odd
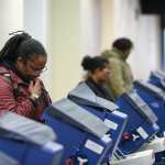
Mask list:
[[[112,43],[112,50],[101,53],[109,59],[111,74],[107,80],[107,87],[113,100],[133,88],[133,75],[127,59],[133,48],[133,43],[127,37],[117,38]]]

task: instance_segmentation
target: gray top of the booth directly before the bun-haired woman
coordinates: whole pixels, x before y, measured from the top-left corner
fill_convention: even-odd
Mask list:
[[[68,94],[68,98],[80,105],[100,107],[108,111],[114,111],[119,109],[119,107],[113,102],[97,97],[86,82],[81,82],[75,89],[73,89]]]

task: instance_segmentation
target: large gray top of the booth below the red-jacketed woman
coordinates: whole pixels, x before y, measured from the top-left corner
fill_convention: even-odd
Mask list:
[[[55,140],[53,130],[13,112],[0,116],[0,136],[44,145]]]

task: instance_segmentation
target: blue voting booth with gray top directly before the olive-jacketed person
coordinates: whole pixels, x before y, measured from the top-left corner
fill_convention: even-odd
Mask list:
[[[150,138],[160,131],[156,124],[157,117],[135,90],[122,95],[117,100],[117,105],[121,108],[122,112],[129,116],[119,148],[123,153],[130,154],[138,151]]]

